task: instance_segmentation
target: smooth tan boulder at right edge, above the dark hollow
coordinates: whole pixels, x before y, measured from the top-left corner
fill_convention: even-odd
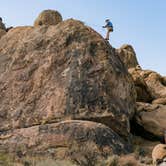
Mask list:
[[[163,137],[166,129],[166,106],[138,102],[135,120],[145,131]]]

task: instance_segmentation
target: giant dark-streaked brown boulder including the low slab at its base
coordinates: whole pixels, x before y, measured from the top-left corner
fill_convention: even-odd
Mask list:
[[[80,21],[48,24],[0,40],[1,149],[56,155],[73,140],[129,152],[136,93],[115,49]]]

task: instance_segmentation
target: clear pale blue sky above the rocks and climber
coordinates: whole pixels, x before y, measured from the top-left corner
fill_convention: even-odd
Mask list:
[[[58,10],[64,19],[84,21],[105,35],[110,18],[113,47],[131,44],[144,69],[166,76],[166,0],[1,0],[0,16],[7,26],[32,25],[45,9]]]

